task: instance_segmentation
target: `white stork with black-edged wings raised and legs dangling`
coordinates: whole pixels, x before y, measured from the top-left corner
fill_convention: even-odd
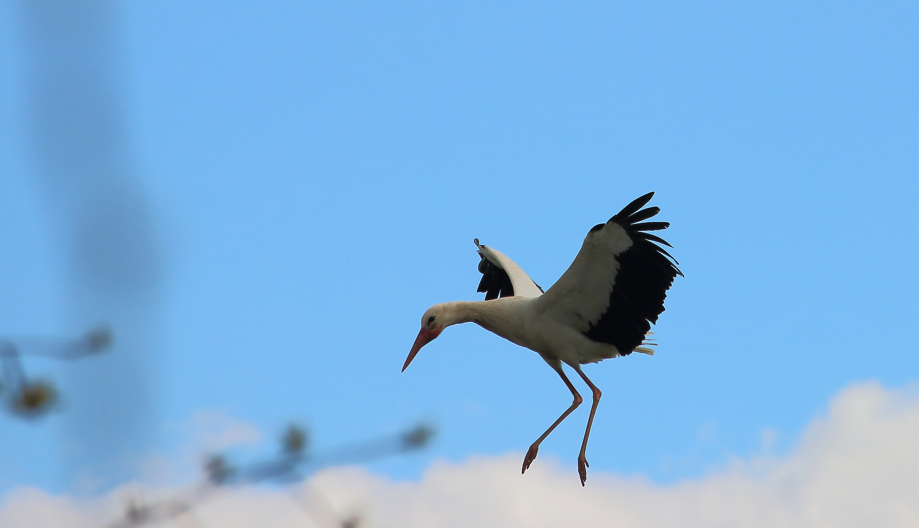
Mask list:
[[[676,267],[679,263],[674,257],[653,242],[673,246],[645,232],[670,227],[669,222],[642,222],[661,211],[657,207],[642,209],[652,196],[654,193],[639,197],[607,223],[594,226],[572,265],[545,293],[511,259],[476,239],[482,256],[478,291],[485,294],[485,300],[437,304],[421,318],[421,331],[405,359],[403,372],[421,347],[445,328],[474,322],[536,352],[562,376],[574,401],[529,446],[521,473],[536,459],[539,444],[583,400],[562,371],[562,363],[584,379],[594,396],[578,455],[578,475],[584,486],[589,466],[585,456],[587,438],[600,389],[584,376],[581,365],[632,352],[653,354],[652,349],[641,344],[653,344],[644,342],[645,336],[664,311],[664,298],[676,275],[683,273]]]

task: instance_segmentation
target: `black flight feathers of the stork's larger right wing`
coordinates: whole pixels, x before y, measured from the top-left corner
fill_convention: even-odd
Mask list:
[[[632,245],[616,255],[619,269],[616,284],[609,294],[607,311],[584,332],[593,341],[615,346],[622,355],[631,354],[635,347],[641,345],[645,334],[651,330],[651,324],[656,323],[664,311],[667,290],[674,284],[676,275],[683,275],[675,265],[676,259],[653,242],[673,246],[644,232],[667,229],[670,223],[635,223],[660,212],[660,208],[656,207],[639,211],[653,195],[648,193],[632,201],[609,219],[626,230]]]

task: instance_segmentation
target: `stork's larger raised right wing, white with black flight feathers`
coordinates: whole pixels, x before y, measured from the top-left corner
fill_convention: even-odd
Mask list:
[[[676,260],[654,242],[673,247],[645,231],[668,222],[643,222],[661,211],[641,209],[654,193],[632,201],[605,224],[594,226],[574,262],[539,299],[548,314],[620,355],[641,345],[651,323],[664,311],[676,275]],[[639,210],[641,209],[641,210]]]

